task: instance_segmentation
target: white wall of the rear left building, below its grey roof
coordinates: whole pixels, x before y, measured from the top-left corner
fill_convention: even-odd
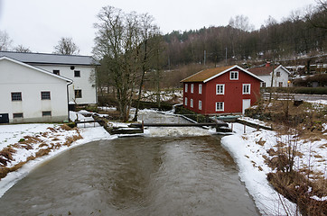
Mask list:
[[[53,72],[53,70],[59,70],[60,76],[64,76],[73,80],[73,84],[69,86],[69,101],[70,103],[77,104],[91,104],[97,103],[97,88],[95,82],[90,80],[90,76],[94,73],[94,67],[87,66],[74,66],[74,69],[70,69],[70,66],[59,65],[34,65],[41,67],[47,71]],[[80,71],[80,77],[74,76],[74,71]],[[93,79],[94,80],[94,79]],[[82,90],[82,98],[75,98],[75,90]]]

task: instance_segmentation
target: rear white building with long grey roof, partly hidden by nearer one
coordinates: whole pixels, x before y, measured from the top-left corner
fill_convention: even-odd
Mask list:
[[[98,102],[97,86],[92,79],[98,63],[89,56],[0,51],[0,58],[3,56],[73,80],[73,84],[69,85],[70,104]]]

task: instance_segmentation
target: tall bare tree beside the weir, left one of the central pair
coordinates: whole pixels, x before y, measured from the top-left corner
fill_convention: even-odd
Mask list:
[[[93,53],[107,64],[108,76],[117,91],[118,111],[123,121],[128,121],[132,103],[136,72],[139,69],[138,20],[135,13],[106,6],[98,14],[99,23]],[[105,62],[104,62],[105,61]]]

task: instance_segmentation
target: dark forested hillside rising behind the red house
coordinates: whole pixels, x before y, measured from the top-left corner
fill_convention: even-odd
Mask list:
[[[163,36],[168,67],[190,63],[234,64],[244,59],[285,59],[326,52],[327,10],[297,11],[277,23],[269,17],[259,30],[237,15],[227,26],[173,31]]]

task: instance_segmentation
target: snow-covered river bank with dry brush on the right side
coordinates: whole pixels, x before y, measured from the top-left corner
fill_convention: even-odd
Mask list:
[[[244,126],[238,123],[233,124],[233,129],[236,134],[223,137],[221,144],[235,158],[240,179],[246,184],[259,211],[263,215],[295,215],[296,205],[277,193],[266,179],[266,174],[273,172],[265,162],[265,157],[269,157],[267,150],[276,149],[278,141],[289,138],[286,135],[277,136],[276,131],[257,131],[248,127],[247,133],[244,133]],[[296,157],[294,168],[299,170],[311,161],[313,171],[327,176],[326,161],[322,158],[327,155],[326,143],[326,139],[313,142],[299,140],[298,151],[303,155]]]

